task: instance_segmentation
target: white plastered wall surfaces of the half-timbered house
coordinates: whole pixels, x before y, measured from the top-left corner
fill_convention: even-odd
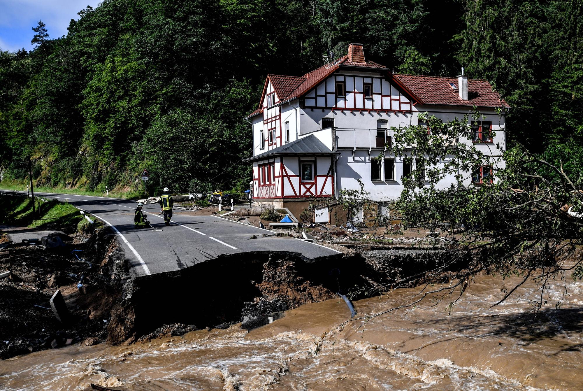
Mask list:
[[[365,73],[365,72],[342,72],[343,74],[352,74],[359,76],[358,81],[359,85],[349,85],[348,79],[346,79],[346,90],[349,88],[354,88],[356,92],[362,89],[361,83],[364,82],[364,78],[367,76],[374,76],[378,77],[378,74],[374,72]],[[251,118],[253,123],[253,139],[254,139],[254,155],[259,155],[260,153],[264,153],[269,149],[276,148],[282,144],[286,144],[285,135],[283,134],[285,130],[285,123],[289,123],[290,128],[290,139],[289,142],[295,141],[297,138],[307,137],[308,135],[313,134],[317,137],[324,145],[326,145],[329,149],[333,150],[335,146],[338,146],[338,151],[340,152],[340,156],[338,159],[338,165],[336,167],[337,170],[337,179],[335,186],[338,190],[342,189],[358,189],[360,188],[357,179],[363,181],[365,189],[369,194],[369,197],[372,200],[394,200],[399,197],[402,186],[402,176],[403,176],[403,156],[389,156],[386,155],[386,158],[394,158],[395,160],[395,180],[394,181],[372,181],[371,174],[370,174],[370,162],[371,158],[376,158],[381,152],[381,149],[376,148],[375,146],[375,136],[376,136],[376,129],[377,129],[377,121],[378,120],[386,120],[387,127],[390,129],[391,127],[407,127],[409,125],[416,125],[418,124],[417,114],[422,113],[424,111],[429,112],[430,115],[434,115],[440,120],[446,122],[451,121],[455,117],[461,119],[463,118],[464,114],[469,114],[468,124],[472,121],[472,107],[469,106],[420,106],[417,104],[416,106],[411,106],[411,111],[391,111],[391,110],[376,110],[376,111],[360,111],[360,110],[353,110],[344,109],[339,110],[339,102],[334,102],[334,100],[329,100],[329,90],[333,89],[333,81],[334,79],[329,78],[328,80],[322,82],[320,85],[316,86],[311,92],[308,92],[306,95],[306,99],[311,97],[312,103],[318,106],[319,104],[323,104],[324,106],[333,106],[333,107],[305,107],[300,108],[300,100],[296,99],[289,103],[279,104],[271,109],[265,109],[263,115],[255,116]],[[336,79],[338,80],[338,79]],[[356,80],[356,79],[354,79]],[[378,97],[373,97],[370,100],[371,107],[377,107],[375,105],[382,104],[385,106],[384,103],[379,103],[378,99],[385,99],[382,95],[385,94],[387,90],[392,93],[397,91],[394,86],[389,85],[387,81],[379,80],[375,82],[373,79],[374,91],[381,91],[382,93]],[[358,84],[358,83],[357,83]],[[266,88],[266,94],[272,92],[271,83],[268,83]],[[321,102],[318,103],[318,93],[324,93],[325,98],[324,100],[320,99]],[[356,94],[355,94],[356,95]],[[394,99],[399,99],[399,102],[402,101],[402,95],[396,92],[395,96],[392,96]],[[264,97],[265,99],[265,97]],[[349,100],[348,94],[346,100],[342,104],[347,104]],[[365,101],[368,102],[368,101]],[[392,104],[392,101],[389,99],[389,103]],[[264,100],[264,106],[266,105],[266,100]],[[354,103],[354,106],[358,105]],[[365,105],[366,106],[366,105]],[[364,107],[367,108],[367,107]],[[497,155],[499,151],[496,149],[496,145],[500,145],[503,150],[505,150],[506,145],[506,134],[504,131],[504,116],[498,116],[494,109],[480,109],[482,121],[490,121],[492,123],[492,130],[494,131],[494,139],[491,143],[483,143],[479,142],[476,145],[476,148],[480,151],[484,152],[486,155]],[[268,147],[268,143],[265,142],[265,149],[260,148],[260,141],[259,141],[259,131],[264,130],[265,138],[268,137],[266,130],[268,128],[273,127],[275,122],[271,122],[270,124],[265,124],[264,119],[270,117],[278,117],[278,136],[281,138],[278,139],[277,144]],[[334,126],[336,128],[336,140],[333,140],[333,130],[332,128],[325,128],[322,129],[322,118],[333,118],[334,119]],[[389,131],[389,135],[391,132]],[[459,140],[459,142],[464,142],[467,144],[471,144],[471,139],[469,140]],[[352,149],[356,144],[357,149],[354,154]],[[370,151],[369,151],[370,149]],[[319,159],[319,158],[318,158]],[[324,164],[324,162],[317,162],[317,174],[322,175],[328,172],[329,167],[329,158],[328,163]],[[285,164],[286,170],[288,174],[299,174],[298,173],[298,158],[283,158],[283,162]],[[261,162],[259,163],[261,164]],[[504,162],[501,159],[493,159],[492,161],[493,167],[504,167]],[[325,170],[325,172],[323,172]],[[254,172],[255,177],[257,177],[257,163],[254,163]],[[279,175],[279,161],[276,163],[276,173]],[[448,176],[444,177],[438,183],[438,187],[444,188],[448,187],[452,181],[454,181],[454,174],[448,174]],[[297,188],[299,185],[298,178],[293,178],[293,186]],[[470,173],[466,173],[466,186],[471,185],[471,175]],[[278,188],[280,188],[280,183],[278,181]],[[286,196],[291,193],[291,187],[289,181],[284,181],[283,183],[283,194]],[[328,192],[328,189],[325,191]],[[257,193],[255,193],[257,194]],[[280,190],[278,190],[278,195],[280,195]]]

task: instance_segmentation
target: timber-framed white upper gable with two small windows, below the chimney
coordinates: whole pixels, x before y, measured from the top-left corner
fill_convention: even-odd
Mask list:
[[[343,88],[338,88],[339,84],[343,84]],[[372,86],[371,96],[365,96],[364,85]],[[342,89],[344,95],[337,95]],[[405,112],[412,110],[412,104],[410,98],[386,78],[373,76],[332,75],[304,95],[304,108],[307,109]]]

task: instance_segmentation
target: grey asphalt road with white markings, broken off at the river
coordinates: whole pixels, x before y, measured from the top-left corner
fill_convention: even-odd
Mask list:
[[[13,193],[19,193],[14,191]],[[26,192],[25,192],[26,193]],[[57,198],[99,218],[120,237],[131,264],[131,275],[180,270],[199,262],[216,259],[221,254],[278,250],[301,253],[307,258],[338,254],[328,247],[299,239],[278,238],[272,232],[217,216],[189,216],[174,210],[170,226],[164,225],[160,205],[144,205],[153,229],[135,229],[136,202],[119,198],[78,196],[76,194],[34,193],[43,198]],[[157,231],[156,231],[157,229]],[[256,239],[251,239],[252,236]],[[268,235],[268,236],[263,236]]]

